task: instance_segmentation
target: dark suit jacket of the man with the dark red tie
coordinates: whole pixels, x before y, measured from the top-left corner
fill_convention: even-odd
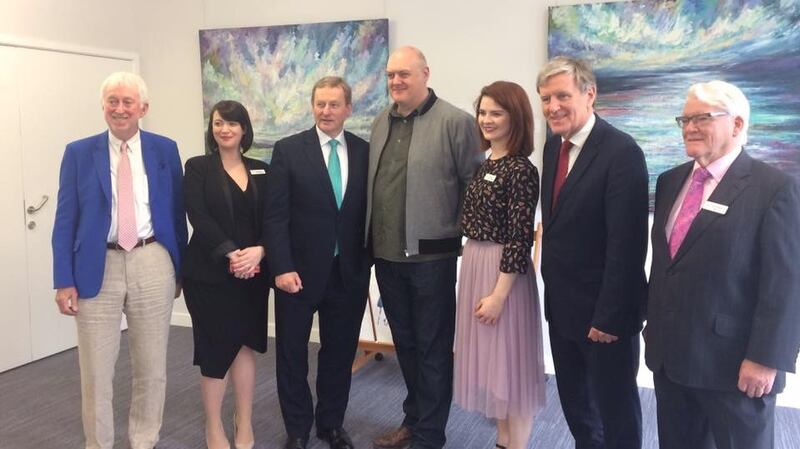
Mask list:
[[[545,317],[585,341],[642,328],[647,285],[647,166],[628,134],[597,117],[551,211],[561,137],[544,147],[542,278]]]

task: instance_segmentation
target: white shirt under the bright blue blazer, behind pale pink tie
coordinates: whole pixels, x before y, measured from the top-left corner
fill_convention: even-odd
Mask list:
[[[147,173],[142,158],[142,141],[139,131],[127,141],[128,159],[131,163],[133,177],[133,201],[136,212],[136,229],[139,239],[153,235],[153,223],[150,219],[150,196],[147,187]],[[117,243],[117,165],[122,141],[108,132],[108,154],[111,169],[111,227],[108,229],[108,242]]]

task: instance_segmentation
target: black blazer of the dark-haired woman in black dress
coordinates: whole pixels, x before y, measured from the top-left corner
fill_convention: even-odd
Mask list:
[[[269,166],[262,161],[242,157],[248,183],[254,190],[254,217],[264,216]],[[196,156],[186,161],[183,195],[186,214],[192,225],[192,238],[183,261],[183,275],[204,282],[223,282],[228,272],[229,252],[238,249],[234,232],[233,202],[227,174],[219,153]],[[265,245],[263,226],[256,226],[260,244]],[[261,272],[268,276],[265,259]]]

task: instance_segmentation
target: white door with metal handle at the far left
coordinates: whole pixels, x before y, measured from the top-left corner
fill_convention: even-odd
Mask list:
[[[105,130],[100,84],[135,55],[0,42],[0,371],[77,344],[54,301],[50,238],[68,142]]]

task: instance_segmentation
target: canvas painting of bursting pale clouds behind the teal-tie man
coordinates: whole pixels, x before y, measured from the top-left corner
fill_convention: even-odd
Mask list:
[[[248,156],[269,162],[275,141],[313,125],[314,83],[337,75],[353,89],[345,127],[368,138],[388,104],[388,41],[387,19],[201,30],[204,126],[217,101],[240,101],[255,134]]]

